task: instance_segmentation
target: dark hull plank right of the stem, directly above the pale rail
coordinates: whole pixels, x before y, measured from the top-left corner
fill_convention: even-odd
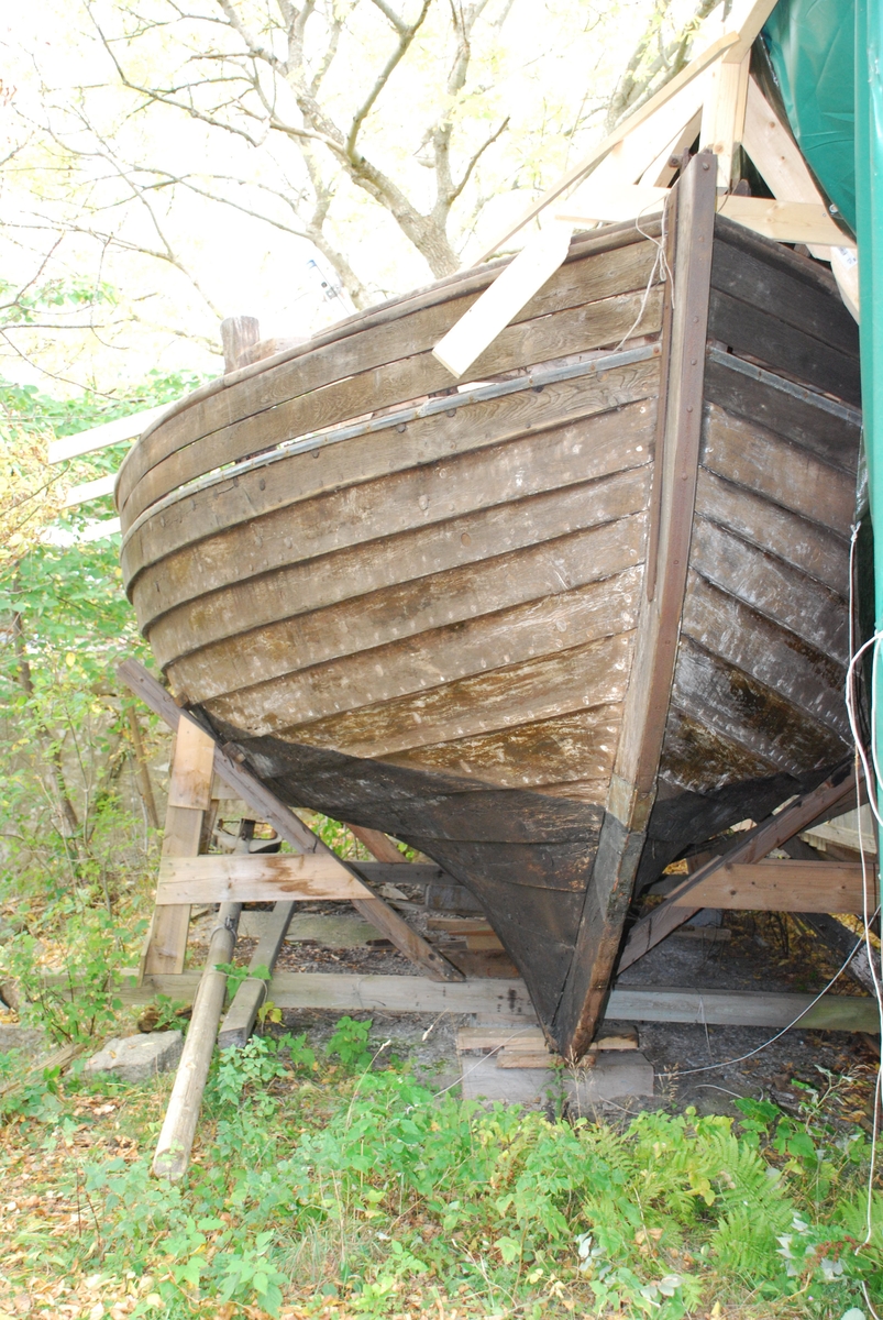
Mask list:
[[[769,366],[773,371],[785,371],[814,389],[832,393],[849,404],[862,401],[858,360],[795,326],[787,326],[772,310],[767,312],[713,289],[709,334],[734,352]]]

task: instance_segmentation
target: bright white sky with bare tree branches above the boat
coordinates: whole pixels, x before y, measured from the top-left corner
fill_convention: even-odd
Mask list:
[[[224,315],[310,334],[446,273],[682,63],[711,8],[7,8],[0,374],[115,393],[214,372]]]

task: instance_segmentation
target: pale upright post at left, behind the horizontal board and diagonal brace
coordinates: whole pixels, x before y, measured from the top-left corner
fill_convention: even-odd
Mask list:
[[[213,758],[214,743],[209,735],[191,721],[185,722],[177,731],[172,758],[162,857],[198,855],[203,812],[211,801]],[[143,977],[154,972],[183,972],[189,927],[190,904],[153,909],[141,957]]]

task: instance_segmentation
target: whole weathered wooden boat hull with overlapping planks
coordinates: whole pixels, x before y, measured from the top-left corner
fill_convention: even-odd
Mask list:
[[[849,743],[855,329],[702,169],[665,236],[574,240],[475,388],[429,350],[498,267],[198,391],[117,483],[180,698],[467,884],[574,1053],[635,886]]]

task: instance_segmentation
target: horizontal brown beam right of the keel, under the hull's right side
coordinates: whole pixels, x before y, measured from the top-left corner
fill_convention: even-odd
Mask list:
[[[876,907],[876,873],[868,867],[871,911]],[[865,911],[858,862],[727,862],[685,894],[681,904],[746,912]],[[674,903],[677,907],[678,903]]]

